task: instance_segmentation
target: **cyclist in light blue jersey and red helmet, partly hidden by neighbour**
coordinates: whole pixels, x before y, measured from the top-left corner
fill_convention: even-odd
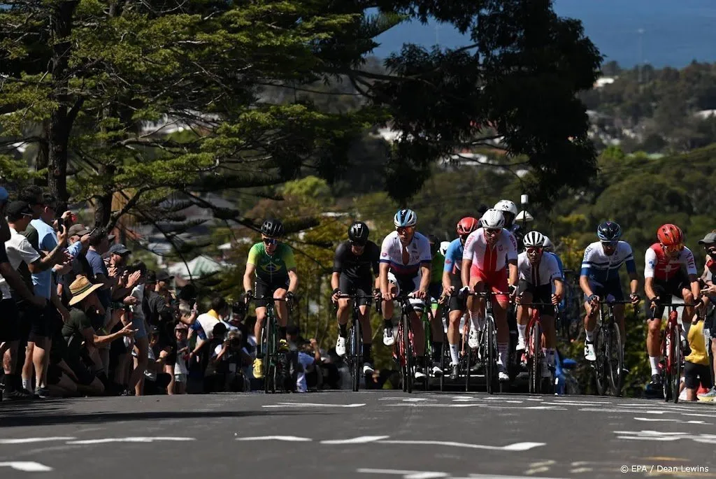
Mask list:
[[[463,266],[463,249],[465,241],[470,233],[480,228],[480,221],[470,216],[463,218],[458,223],[458,238],[453,240],[448,246],[445,253],[445,267],[442,268],[442,291],[450,294],[450,303],[448,303],[448,317],[450,325],[448,326],[448,343],[450,344],[450,379],[458,379],[460,367],[460,318],[465,314],[467,304],[465,299],[460,300],[456,290],[460,289],[463,284],[460,278],[460,268]]]

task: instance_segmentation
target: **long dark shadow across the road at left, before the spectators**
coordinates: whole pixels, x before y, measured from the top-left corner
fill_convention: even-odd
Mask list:
[[[314,415],[318,411],[140,411],[140,412],[71,412],[62,407],[61,402],[51,404],[25,404],[0,407],[0,427],[29,427],[59,424],[78,424],[95,422],[119,422],[163,419],[223,419],[228,417],[256,416],[294,416]],[[76,405],[77,403],[74,402]],[[320,414],[325,415],[326,411]]]

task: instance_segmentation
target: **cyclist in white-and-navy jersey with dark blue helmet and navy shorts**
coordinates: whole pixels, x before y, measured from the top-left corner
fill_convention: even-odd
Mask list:
[[[599,241],[591,243],[584,250],[584,258],[582,259],[581,273],[579,276],[579,286],[584,291],[584,332],[586,332],[586,341],[584,342],[584,357],[587,361],[596,361],[596,352],[594,350],[594,328],[596,327],[596,313],[599,311],[599,302],[606,300],[607,296],[614,296],[616,301],[624,300],[624,293],[621,291],[621,281],[619,280],[619,268],[624,263],[627,264],[627,273],[629,274],[629,288],[632,294],[629,299],[632,303],[639,303],[639,279],[637,279],[637,265],[634,263],[634,254],[632,246],[626,241],[619,241],[621,237],[621,227],[613,221],[605,221],[596,229],[596,236]],[[624,305],[617,304],[614,306],[614,318],[619,322],[619,333],[621,334],[621,346],[627,339],[626,329],[624,328]]]

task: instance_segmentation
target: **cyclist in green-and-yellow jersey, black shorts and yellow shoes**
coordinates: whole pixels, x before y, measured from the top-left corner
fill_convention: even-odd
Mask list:
[[[268,219],[261,225],[261,243],[251,246],[243,274],[243,289],[246,301],[250,296],[276,299],[293,299],[299,276],[296,275],[294,251],[286,243],[281,243],[284,236],[284,225],[279,220]],[[254,291],[255,287],[255,293]],[[276,316],[279,321],[279,349],[288,350],[286,342],[286,324],[289,321],[289,309],[286,301],[275,301]],[[263,377],[263,351],[261,350],[261,329],[266,319],[266,299],[256,300],[256,324],[253,334],[256,336],[256,359],[253,362],[253,377]]]

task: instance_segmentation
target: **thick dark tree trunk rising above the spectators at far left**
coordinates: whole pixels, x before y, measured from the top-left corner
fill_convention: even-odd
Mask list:
[[[49,118],[47,128],[47,185],[50,193],[57,198],[57,211],[67,208],[67,145],[72,120],[69,116],[70,97],[67,92],[69,78],[67,66],[72,44],[69,36],[72,33],[72,15],[77,1],[60,1],[54,5],[52,12],[52,38],[54,40],[52,64],[52,99],[57,108]]]

